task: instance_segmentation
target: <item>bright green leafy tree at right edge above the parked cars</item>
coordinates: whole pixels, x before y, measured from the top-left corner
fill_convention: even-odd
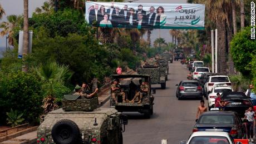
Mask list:
[[[231,41],[231,54],[235,68],[243,75],[250,75],[252,67],[249,64],[256,55],[256,41],[250,39],[250,27],[238,32]]]

